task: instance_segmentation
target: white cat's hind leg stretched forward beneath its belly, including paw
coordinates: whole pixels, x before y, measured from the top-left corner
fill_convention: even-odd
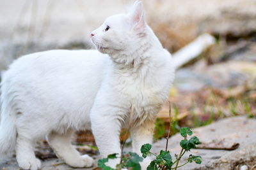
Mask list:
[[[88,155],[80,155],[71,145],[71,138],[74,131],[68,130],[65,134],[51,132],[48,136],[49,145],[56,155],[72,167],[92,167],[93,159]]]

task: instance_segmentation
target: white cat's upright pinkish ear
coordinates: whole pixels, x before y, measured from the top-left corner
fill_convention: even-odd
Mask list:
[[[134,29],[143,29],[145,27],[145,17],[143,12],[143,3],[135,1],[130,13],[131,24]]]

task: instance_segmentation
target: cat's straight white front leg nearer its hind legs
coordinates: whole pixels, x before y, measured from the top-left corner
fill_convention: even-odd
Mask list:
[[[96,104],[91,111],[92,132],[102,158],[118,153],[120,157],[120,117],[122,110],[107,104]],[[116,168],[120,159],[109,159],[108,166]]]

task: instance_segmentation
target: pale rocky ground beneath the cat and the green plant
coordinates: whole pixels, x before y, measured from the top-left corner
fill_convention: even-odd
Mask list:
[[[211,125],[205,127],[198,127],[193,129],[195,136],[197,136],[202,146],[209,149],[193,149],[184,155],[182,162],[184,162],[189,154],[201,155],[202,164],[195,163],[188,164],[180,168],[181,170],[206,170],[206,169],[220,169],[220,170],[232,170],[239,169],[241,166],[247,166],[248,168],[256,164],[256,119],[247,117],[232,117],[214,122]],[[172,136],[169,140],[168,149],[172,155],[180,152],[179,141],[182,138],[179,134]],[[239,145],[239,146],[238,146]],[[158,153],[159,150],[163,150],[166,146],[166,139],[161,139],[154,143],[152,146],[152,152]],[[234,146],[234,148],[232,148]],[[237,148],[238,146],[238,148]],[[83,153],[88,153],[95,159],[95,164],[92,168],[76,168],[76,169],[94,169],[96,161],[99,159],[99,155],[92,152],[92,149],[87,146],[77,146],[79,150],[83,150]],[[218,149],[218,148],[224,149]],[[82,149],[83,148],[83,149]],[[211,149],[210,149],[211,148]],[[227,149],[234,150],[227,150]],[[130,147],[125,148],[125,151],[131,150]],[[52,151],[45,145],[40,145],[37,148],[37,155],[42,159],[42,169],[44,170],[67,170],[74,169],[67,166],[61,160],[52,155]],[[43,156],[44,155],[44,156]],[[47,158],[48,157],[48,158]],[[174,156],[173,156],[174,157]],[[0,164],[2,170],[14,170],[19,169],[15,159],[9,160],[4,164]]]

